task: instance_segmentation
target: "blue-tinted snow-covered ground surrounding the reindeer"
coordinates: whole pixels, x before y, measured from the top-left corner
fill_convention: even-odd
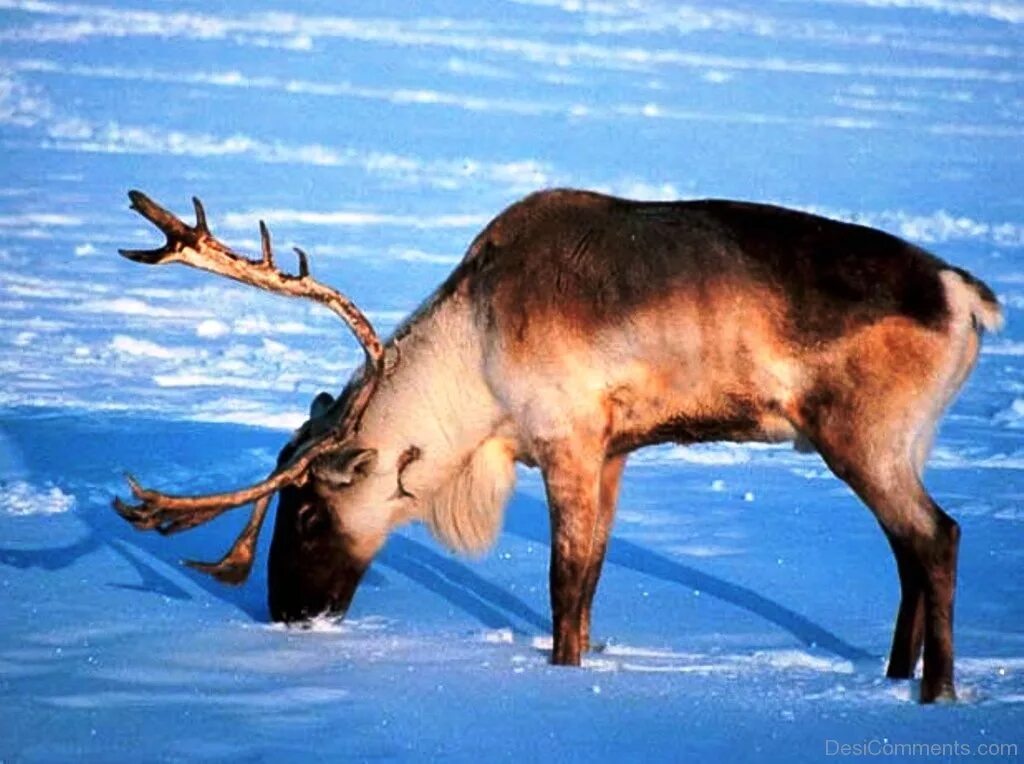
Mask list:
[[[1024,4],[272,5],[0,0],[0,760],[1024,752]],[[485,559],[403,530],[310,631],[267,624],[262,566],[177,564],[241,517],[167,540],[109,509],[124,469],[264,473],[359,357],[324,311],[117,257],[159,239],[128,188],[240,248],[266,219],[387,331],[548,185],[812,209],[998,292],[928,478],[964,527],[961,703],[883,679],[888,547],[792,451],[636,456],[584,670],[547,665],[536,474]]]

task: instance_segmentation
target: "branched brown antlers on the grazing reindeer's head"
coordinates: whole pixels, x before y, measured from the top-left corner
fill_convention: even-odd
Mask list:
[[[335,424],[312,436],[317,428],[304,427],[299,433],[295,453],[260,482],[223,494],[174,496],[144,489],[128,476],[132,495],[139,504],[129,505],[121,499],[114,500],[114,508],[136,528],[164,535],[186,530],[229,509],[255,502],[248,524],[219,562],[188,562],[224,583],[241,584],[252,568],[256,539],[273,493],[286,485],[304,482],[310,465],[317,457],[337,449],[357,431],[367,404],[383,375],[384,347],[370,321],[350,299],[309,275],[308,260],[302,250],[295,248],[299,259],[297,275],[286,273],[274,265],[270,234],[262,220],[259,222],[262,257],[251,260],[233,252],[210,232],[206,211],[199,199],[193,198],[196,225],[188,225],[141,192],[128,192],[128,198],[132,209],[164,232],[167,243],[154,250],[119,250],[124,257],[146,265],[180,262],[275,294],[315,300],[348,325],[366,353],[360,386],[350,396],[343,412],[331,411],[326,415],[338,415]],[[303,437],[308,439],[303,441]]]

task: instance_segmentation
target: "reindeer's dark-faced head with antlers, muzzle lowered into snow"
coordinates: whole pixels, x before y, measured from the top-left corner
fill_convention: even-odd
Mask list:
[[[132,208],[162,230],[167,242],[155,250],[121,250],[123,256],[147,265],[179,262],[268,292],[319,302],[348,325],[362,346],[366,363],[338,399],[322,393],[313,400],[309,419],[282,450],[276,468],[263,480],[228,493],[176,496],[143,487],[129,476],[136,503],[116,499],[115,508],[136,528],[170,535],[251,504],[249,521],[219,561],[186,560],[190,567],[222,583],[238,585],[249,577],[270,500],[280,494],[269,558],[271,617],[293,622],[324,612],[343,612],[387,528],[374,532],[358,515],[347,515],[349,527],[345,527],[338,519],[338,504],[348,501],[356,507],[369,503],[380,508],[380,504],[400,504],[404,498],[394,487],[410,456],[389,471],[379,464],[374,449],[357,444],[364,413],[385,376],[382,342],[351,300],[309,274],[308,260],[301,250],[296,249],[297,274],[275,265],[270,236],[262,221],[262,256],[249,259],[211,235],[198,199],[193,200],[196,224],[188,225],[140,192],[131,192],[129,198]],[[359,496],[368,492],[370,495]],[[361,526],[353,528],[353,523]]]

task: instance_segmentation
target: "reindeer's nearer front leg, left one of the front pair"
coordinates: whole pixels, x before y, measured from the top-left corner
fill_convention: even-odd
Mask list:
[[[603,455],[582,448],[579,439],[545,444],[541,469],[551,515],[551,662],[579,666],[586,649],[584,624],[588,579],[594,557],[595,528]]]

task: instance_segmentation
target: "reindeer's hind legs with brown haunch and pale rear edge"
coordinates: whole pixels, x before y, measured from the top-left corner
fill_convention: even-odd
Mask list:
[[[959,526],[921,481],[935,425],[978,353],[970,316],[950,308],[943,330],[894,316],[829,347],[791,415],[892,547],[901,596],[887,673],[910,677],[924,647],[923,703],[954,697]]]

